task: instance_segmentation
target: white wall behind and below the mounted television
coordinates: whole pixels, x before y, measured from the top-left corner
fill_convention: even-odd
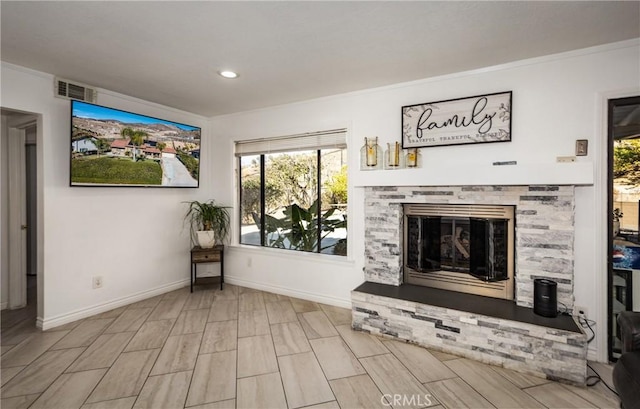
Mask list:
[[[41,114],[38,124],[39,319],[45,328],[188,283],[185,204],[216,198],[215,161],[204,160],[200,189],[69,187],[70,102],[53,96],[53,76],[2,64],[2,106]],[[99,90],[101,105],[200,126],[206,118]],[[4,160],[1,164],[4,166]],[[225,190],[226,194],[226,190]],[[3,257],[4,259],[4,257]],[[92,277],[104,286],[92,289]],[[3,285],[4,291],[4,285]]]

